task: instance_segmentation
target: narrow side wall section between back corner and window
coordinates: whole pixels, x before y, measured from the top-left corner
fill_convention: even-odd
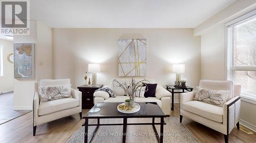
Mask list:
[[[226,80],[224,25],[218,24],[201,35],[201,79]]]

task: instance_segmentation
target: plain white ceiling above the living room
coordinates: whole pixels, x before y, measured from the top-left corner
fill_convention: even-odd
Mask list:
[[[52,27],[193,28],[236,0],[33,0],[31,20]]]

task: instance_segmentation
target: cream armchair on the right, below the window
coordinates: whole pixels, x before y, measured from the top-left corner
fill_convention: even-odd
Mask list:
[[[227,102],[223,107],[193,100],[196,91],[180,95],[180,122],[182,117],[189,118],[224,134],[225,142],[235,125],[239,129],[241,85],[232,81],[201,80],[199,87],[210,90],[228,90]]]

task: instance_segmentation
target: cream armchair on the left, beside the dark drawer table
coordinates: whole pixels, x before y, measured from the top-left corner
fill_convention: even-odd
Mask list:
[[[40,103],[38,95],[39,86],[56,86],[70,84],[70,79],[44,79],[39,83],[35,82],[35,93],[33,99],[33,136],[35,136],[36,126],[63,117],[80,114],[82,119],[81,92],[71,89],[72,98],[62,98]]]

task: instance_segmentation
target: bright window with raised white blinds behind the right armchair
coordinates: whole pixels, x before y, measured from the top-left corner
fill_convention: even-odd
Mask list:
[[[256,12],[226,24],[227,78],[242,85],[242,95],[256,98]]]

